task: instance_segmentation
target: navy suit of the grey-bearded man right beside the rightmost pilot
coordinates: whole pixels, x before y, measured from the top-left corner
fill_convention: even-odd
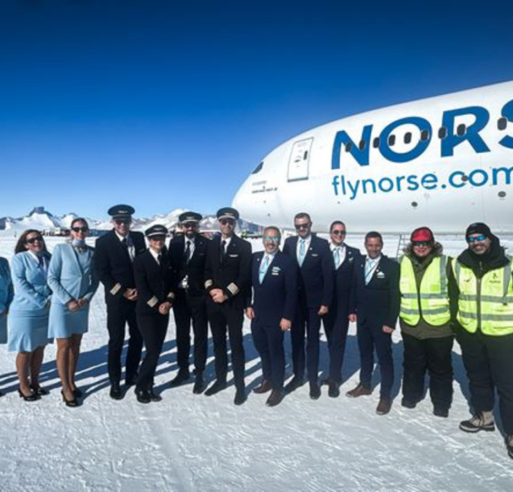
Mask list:
[[[262,283],[259,270],[264,253],[253,254],[252,288],[254,318],[251,333],[262,361],[263,380],[272,389],[283,390],[285,378],[284,332],[282,318],[293,320],[297,301],[297,266],[285,254],[277,252]]]

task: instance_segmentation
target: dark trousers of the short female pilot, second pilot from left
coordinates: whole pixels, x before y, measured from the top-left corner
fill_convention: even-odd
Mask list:
[[[153,378],[168,331],[168,323],[169,315],[137,313],[137,324],[146,348],[146,355],[139,368],[139,377],[135,386],[137,390],[153,388]]]

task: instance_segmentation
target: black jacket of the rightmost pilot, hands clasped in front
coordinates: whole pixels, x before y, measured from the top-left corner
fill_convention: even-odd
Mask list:
[[[223,263],[220,261],[221,237],[209,244],[205,263],[205,288],[222,289],[228,301],[243,309],[250,288],[251,245],[238,236],[232,236]]]

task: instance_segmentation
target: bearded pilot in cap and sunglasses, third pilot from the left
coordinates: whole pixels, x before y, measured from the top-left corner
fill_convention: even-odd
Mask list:
[[[173,270],[176,294],[173,313],[176,324],[178,372],[171,387],[189,380],[189,352],[191,351],[191,322],[194,333],[194,394],[205,389],[203,371],[207,364],[208,319],[205,295],[205,262],[210,241],[199,234],[202,216],[184,212],[178,217],[184,234],[175,236],[168,249],[169,265]]]

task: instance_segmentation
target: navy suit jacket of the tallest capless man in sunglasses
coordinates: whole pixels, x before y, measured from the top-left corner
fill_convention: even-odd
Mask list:
[[[333,256],[327,240],[312,236],[303,265],[297,261],[297,236],[286,238],[284,253],[295,261],[299,268],[299,296],[308,308],[331,306],[333,297]]]

